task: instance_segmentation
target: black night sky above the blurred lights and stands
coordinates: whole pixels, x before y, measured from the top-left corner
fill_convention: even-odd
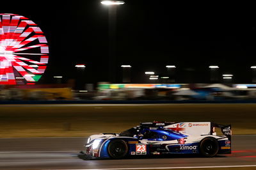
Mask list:
[[[116,13],[118,82],[122,64],[132,65],[132,82],[144,82],[145,71],[164,75],[166,65],[177,66],[177,82],[209,82],[209,65],[234,74],[234,82],[251,82],[253,4],[125,2]],[[0,9],[24,15],[44,31],[50,59],[40,82],[51,83],[53,75],[74,79],[76,63],[86,64],[86,82],[108,81],[108,8],[100,1],[10,1]]]

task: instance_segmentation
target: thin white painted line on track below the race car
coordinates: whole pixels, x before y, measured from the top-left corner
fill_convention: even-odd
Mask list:
[[[185,167],[127,167],[127,168],[67,169],[67,170],[193,169],[193,168],[218,168],[218,167],[256,167],[256,165],[244,165],[244,166],[185,166]]]

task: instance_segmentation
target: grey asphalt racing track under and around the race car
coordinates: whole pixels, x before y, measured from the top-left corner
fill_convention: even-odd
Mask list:
[[[231,155],[83,160],[86,137],[0,139],[0,169],[122,169],[256,165],[256,135],[234,135]]]

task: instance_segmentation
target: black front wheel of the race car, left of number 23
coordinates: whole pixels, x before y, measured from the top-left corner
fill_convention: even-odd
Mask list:
[[[128,145],[122,139],[116,139],[109,143],[108,153],[111,158],[124,158],[128,153]]]

